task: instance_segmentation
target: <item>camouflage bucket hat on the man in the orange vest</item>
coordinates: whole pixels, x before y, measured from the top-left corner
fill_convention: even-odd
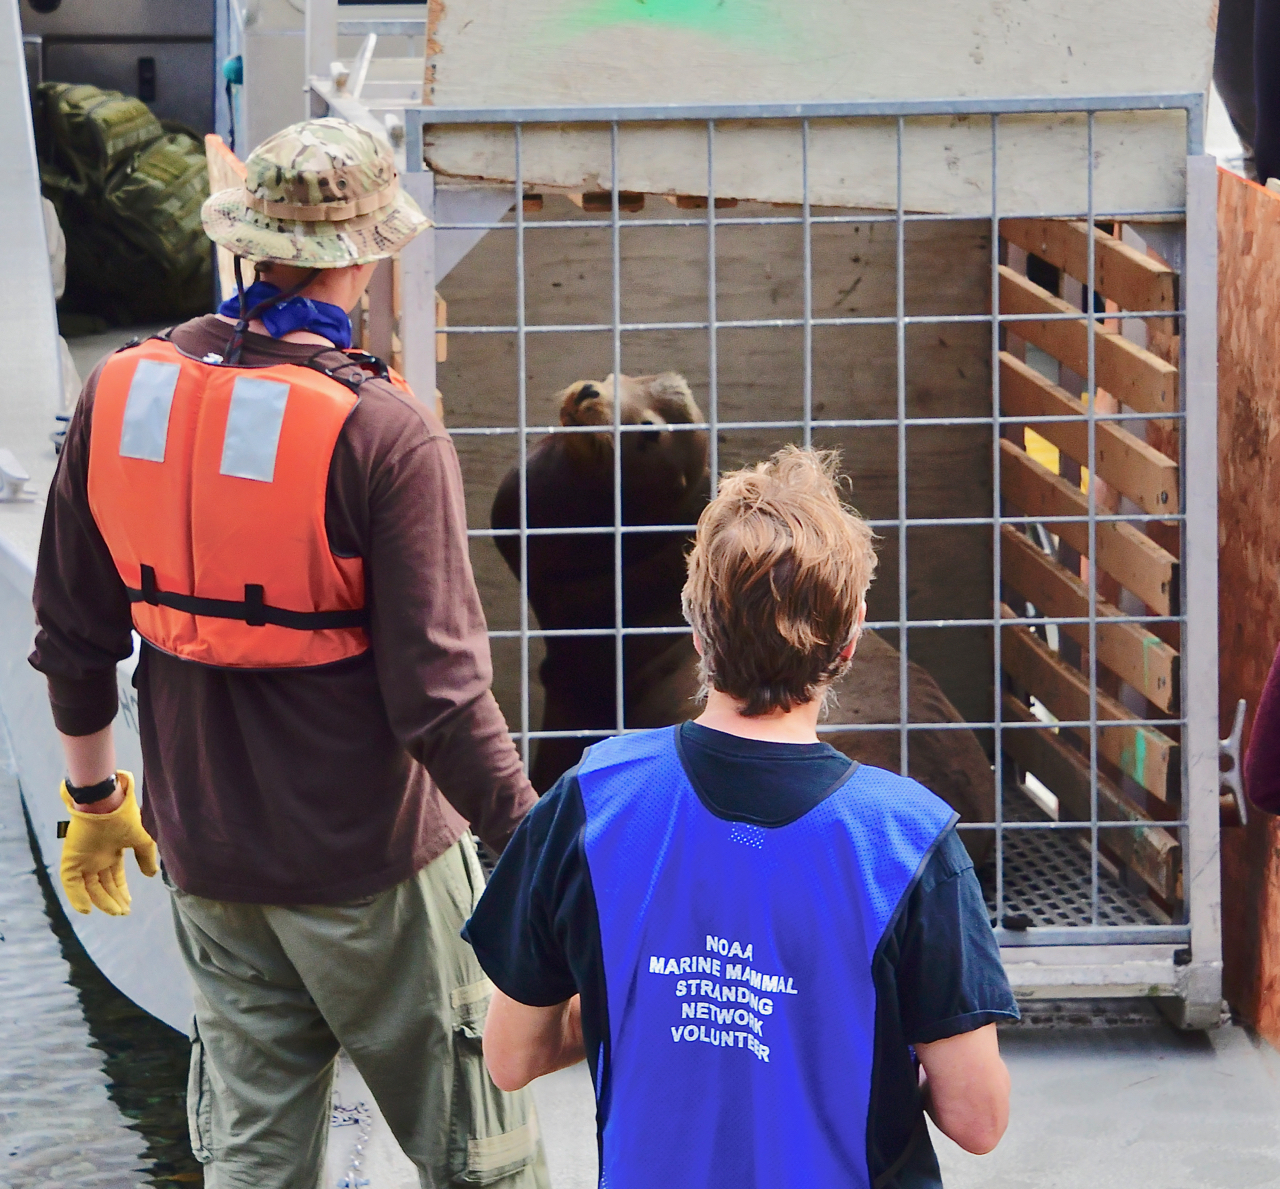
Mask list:
[[[347,120],[291,124],[244,163],[244,186],[205,201],[214,243],[255,262],[343,269],[399,251],[431,220],[399,188],[390,146]]]

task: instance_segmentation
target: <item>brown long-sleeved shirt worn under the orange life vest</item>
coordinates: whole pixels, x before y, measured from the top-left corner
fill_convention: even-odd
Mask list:
[[[173,340],[200,358],[220,352],[229,329],[206,316]],[[296,363],[315,351],[250,334],[242,358]],[[67,735],[115,718],[115,666],[132,651],[128,596],[87,497],[100,371],[68,427],[36,570],[31,663]],[[430,863],[468,822],[502,850],[535,800],[489,690],[462,477],[431,411],[384,381],[361,387],[330,463],[325,526],[335,554],[364,558],[367,651],[265,672],[142,646],[143,822],[170,878],[193,895],[369,896]]]

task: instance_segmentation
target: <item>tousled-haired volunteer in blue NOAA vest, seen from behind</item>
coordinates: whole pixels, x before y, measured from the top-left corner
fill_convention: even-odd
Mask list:
[[[465,936],[507,1089],[588,1057],[609,1189],[940,1186],[1005,1130],[1016,1017],[956,815],[817,735],[876,557],[832,454],[726,475],[685,614],[694,722],[590,747]]]

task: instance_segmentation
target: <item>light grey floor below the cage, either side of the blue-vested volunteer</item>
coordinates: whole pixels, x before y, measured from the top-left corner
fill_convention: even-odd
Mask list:
[[[933,1129],[947,1189],[1280,1186],[1272,1048],[1235,1025],[1175,1032],[1146,1005],[1060,1006],[1050,1023],[1001,1032],[1014,1101],[993,1153],[970,1156]],[[543,1078],[535,1090],[553,1185],[591,1189],[586,1067]]]

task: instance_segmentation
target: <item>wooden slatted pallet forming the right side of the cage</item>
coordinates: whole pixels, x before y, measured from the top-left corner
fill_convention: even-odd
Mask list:
[[[1084,223],[1005,220],[1001,234],[1009,244],[1038,256],[1087,287],[1091,248]],[[1162,261],[1101,228],[1094,229],[1093,273],[1097,292],[1108,302],[1105,317],[1114,320],[1125,312],[1144,315],[1149,342],[1161,351],[1132,342],[1111,329],[1115,321],[1107,325],[1100,317],[1093,328],[1092,352],[1100,390],[1096,408],[1175,412],[1178,367],[1165,357],[1161,344],[1171,340],[1176,330],[1174,320],[1162,315],[1178,308],[1178,275]],[[1006,323],[1006,338],[1012,335],[1039,348],[1076,378],[1088,376],[1089,329],[1079,308],[1007,265],[1000,269],[998,289],[1004,314],[1071,315]],[[1043,727],[1010,728],[1002,732],[1002,749],[1057,796],[1060,820],[1088,823],[1096,805],[1100,822],[1132,823],[1132,829],[1100,831],[1101,850],[1110,861],[1134,872],[1167,905],[1181,892],[1179,842],[1153,820],[1148,805],[1158,810],[1160,802],[1165,802],[1167,813],[1176,813],[1180,746],[1176,731],[1140,722],[1179,710],[1178,636],[1116,621],[1124,618],[1121,607],[1129,613],[1146,607],[1152,614],[1178,614],[1179,561],[1174,552],[1153,540],[1155,534],[1144,522],[1101,520],[1091,531],[1085,521],[1057,517],[1087,516],[1091,500],[1082,472],[1087,483],[1100,484],[1093,499],[1098,513],[1121,508],[1123,499],[1147,515],[1176,513],[1181,490],[1179,463],[1119,421],[1094,420],[1091,435],[1088,394],[1073,394],[1065,380],[1053,383],[1012,349],[1000,353],[998,379],[1005,416],[1053,419],[1029,420],[1025,427],[1056,447],[1060,459],[1057,474],[1033,458],[1024,448],[1021,426],[1009,435],[1012,440],[1001,442],[1000,489],[1006,515],[1033,516],[1056,538],[1055,552],[1047,553],[1021,526],[1002,527],[1005,598],[1011,603],[1025,600],[1020,608],[1033,608],[1038,617],[1088,619],[1087,567],[1096,567],[1092,596],[1096,666],[1089,662],[1087,622],[1062,623],[1056,636],[1027,625],[1006,623],[1001,632],[1001,667],[1007,681],[1004,717],[1009,723],[1024,724],[1039,723],[1037,713],[1079,722],[1089,719],[1091,709],[1096,710],[1098,770],[1091,778],[1088,730],[1059,730],[1051,722]],[[1050,461],[1051,456],[1048,452]],[[1161,539],[1171,544],[1167,536]],[[1126,598],[1125,591],[1135,598]],[[1015,614],[1009,607],[1001,612],[1005,619],[1021,616],[1021,610]],[[1048,639],[1056,639],[1059,648],[1051,648]],[[1096,690],[1091,690],[1091,668],[1098,676]],[[1143,703],[1125,695],[1126,687],[1146,699],[1143,713],[1130,709],[1130,704]],[[1033,703],[1041,708],[1038,712],[1033,710]]]

